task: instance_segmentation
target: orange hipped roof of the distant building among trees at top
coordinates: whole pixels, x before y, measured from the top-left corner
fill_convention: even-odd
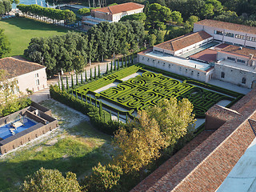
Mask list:
[[[138,10],[144,8],[144,5],[135,3],[135,2],[126,2],[116,6],[106,6],[99,9],[95,9],[92,11],[100,11],[109,14],[120,14],[122,12],[130,11],[130,10]]]

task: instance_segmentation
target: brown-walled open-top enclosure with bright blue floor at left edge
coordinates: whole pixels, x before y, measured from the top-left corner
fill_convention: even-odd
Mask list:
[[[51,110],[32,102],[31,106],[0,118],[0,153],[13,150],[56,128],[58,121],[50,115]]]

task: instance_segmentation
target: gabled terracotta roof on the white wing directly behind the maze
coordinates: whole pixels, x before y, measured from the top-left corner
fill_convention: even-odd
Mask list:
[[[211,38],[210,34],[207,34],[205,31],[201,30],[196,33],[190,33],[182,35],[181,37],[171,39],[167,42],[162,42],[155,47],[159,47],[165,50],[181,50],[186,46],[191,46],[194,43],[201,42],[207,38]]]

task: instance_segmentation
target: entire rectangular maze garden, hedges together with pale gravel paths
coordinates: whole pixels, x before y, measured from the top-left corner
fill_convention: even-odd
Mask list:
[[[106,109],[127,114],[130,118],[134,118],[138,110],[155,106],[159,100],[171,97],[178,100],[188,98],[194,106],[195,117],[205,118],[206,111],[214,104],[226,101],[230,106],[242,97],[242,94],[178,77],[177,74],[171,78],[171,73],[164,75],[153,71],[159,72],[142,64],[130,66],[71,92],[85,102],[102,102]]]

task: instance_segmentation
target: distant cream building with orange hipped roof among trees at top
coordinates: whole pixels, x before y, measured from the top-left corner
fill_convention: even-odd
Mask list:
[[[144,5],[126,2],[116,6],[106,6],[91,10],[90,16],[82,17],[82,28],[90,30],[100,22],[118,22],[123,16],[143,13]]]

